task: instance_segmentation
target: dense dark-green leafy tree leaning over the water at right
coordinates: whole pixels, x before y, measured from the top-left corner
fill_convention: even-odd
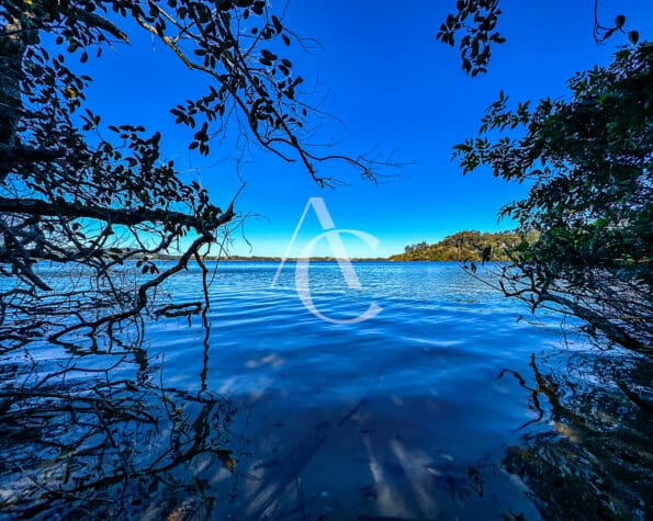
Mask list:
[[[510,109],[502,92],[479,136],[455,147],[464,172],[488,166],[531,183],[527,199],[503,211],[537,235],[511,249],[503,291],[533,309],[552,303],[649,354],[652,63],[649,43],[622,48],[610,66],[576,75],[568,99],[534,107]]]

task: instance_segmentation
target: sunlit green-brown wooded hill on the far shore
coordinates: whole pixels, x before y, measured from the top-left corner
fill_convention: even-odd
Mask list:
[[[521,241],[514,231],[482,234],[481,231],[459,231],[446,237],[440,242],[406,246],[403,253],[392,256],[393,261],[480,261],[509,260],[506,249]]]

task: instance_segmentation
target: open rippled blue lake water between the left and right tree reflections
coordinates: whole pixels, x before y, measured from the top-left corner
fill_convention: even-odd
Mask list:
[[[198,388],[206,360],[207,388],[239,410],[235,430],[251,453],[240,471],[251,479],[239,484],[236,511],[275,519],[292,510],[301,484],[311,514],[333,519],[510,511],[538,519],[523,485],[500,467],[534,415],[528,393],[498,374],[531,378],[531,354],[560,348],[560,317],[519,319],[528,315],[522,304],[454,262],[354,268],[361,290],[347,288],[336,263],[313,263],[309,281],[328,317],[383,308],[360,324],[330,324],[306,309],[292,263],[270,287],[278,264],[232,262],[218,267],[211,287],[206,359],[201,329],[182,319],[150,326],[150,354],[165,356],[167,383]],[[191,275],[172,293],[196,296]],[[322,435],[316,450],[311,442]],[[482,476],[482,495],[470,467]],[[278,477],[289,473],[293,480],[280,490]]]

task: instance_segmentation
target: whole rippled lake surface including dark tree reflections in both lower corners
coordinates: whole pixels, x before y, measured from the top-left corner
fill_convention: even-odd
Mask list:
[[[356,326],[305,310],[292,269],[270,290],[275,268],[229,265],[190,320],[0,351],[2,513],[651,517],[645,361],[561,350],[556,319],[455,264],[357,267],[364,294],[316,265],[331,314],[384,308]],[[192,279],[169,291],[192,302]]]

